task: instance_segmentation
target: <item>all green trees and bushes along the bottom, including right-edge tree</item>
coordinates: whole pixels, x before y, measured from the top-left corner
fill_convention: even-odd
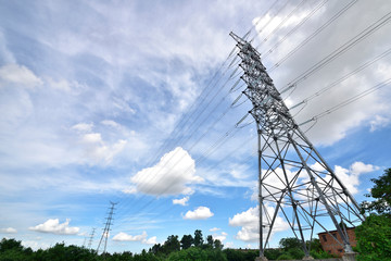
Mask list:
[[[391,261],[391,169],[378,178],[371,179],[375,185],[367,197],[375,200],[362,203],[363,214],[368,216],[356,228],[358,261]],[[318,239],[306,241],[311,256],[315,259],[331,258],[321,249]],[[211,235],[203,239],[202,232],[195,231],[194,237],[172,235],[161,245],[156,244],[148,251],[131,253],[97,254],[94,250],[78,246],[66,246],[64,243],[42,250],[25,248],[21,241],[3,238],[0,241],[0,261],[253,261],[257,250],[224,249],[222,241]],[[304,252],[297,238],[282,238],[279,248],[266,249],[268,260],[302,259]]]

